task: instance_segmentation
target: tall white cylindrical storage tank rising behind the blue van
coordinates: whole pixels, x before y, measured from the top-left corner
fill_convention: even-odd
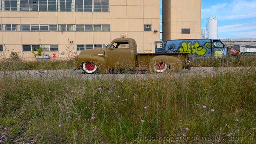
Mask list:
[[[208,18],[208,38],[218,38],[218,18],[216,16]]]

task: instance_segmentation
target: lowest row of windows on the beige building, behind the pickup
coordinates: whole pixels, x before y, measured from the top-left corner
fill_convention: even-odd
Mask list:
[[[22,51],[38,51],[39,46],[41,46],[42,51],[58,51],[57,44],[50,44],[50,45],[22,45]],[[77,44],[76,50],[88,50],[93,48],[105,48],[105,44]],[[0,51],[3,51],[3,46],[0,45]]]

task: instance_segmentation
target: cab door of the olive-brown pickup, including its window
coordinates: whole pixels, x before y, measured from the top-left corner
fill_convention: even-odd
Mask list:
[[[114,42],[110,48],[106,50],[107,66],[109,69],[125,69],[134,68],[136,62],[137,50],[132,50],[127,41]]]

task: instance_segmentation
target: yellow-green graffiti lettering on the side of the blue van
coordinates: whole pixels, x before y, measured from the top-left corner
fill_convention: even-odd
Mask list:
[[[178,51],[183,53],[197,54],[199,56],[204,56],[206,54],[206,48],[200,46],[198,41],[194,41],[193,43],[191,41],[180,42]]]

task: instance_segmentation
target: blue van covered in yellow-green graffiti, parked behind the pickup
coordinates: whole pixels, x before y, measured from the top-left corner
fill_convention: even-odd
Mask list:
[[[156,53],[181,52],[196,56],[222,57],[227,55],[227,46],[218,39],[187,39],[155,41]]]

